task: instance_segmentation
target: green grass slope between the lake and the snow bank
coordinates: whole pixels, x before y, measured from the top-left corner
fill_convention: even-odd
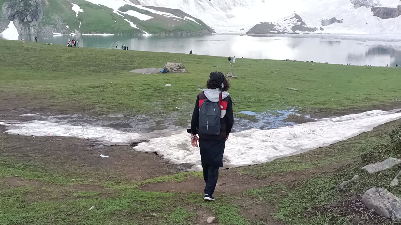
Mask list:
[[[0,49],[4,56],[0,60],[0,92],[51,96],[66,104],[89,105],[97,112],[168,113],[176,106],[190,112],[197,86],[204,86],[213,70],[234,72],[239,77],[231,80],[230,90],[236,111],[293,106],[303,111],[334,111],[401,98],[401,76],[395,68],[241,58],[229,65],[225,57],[66,48],[8,40],[0,41]],[[168,61],[183,63],[189,73],[129,72],[160,68]],[[212,67],[215,65],[218,67]]]

